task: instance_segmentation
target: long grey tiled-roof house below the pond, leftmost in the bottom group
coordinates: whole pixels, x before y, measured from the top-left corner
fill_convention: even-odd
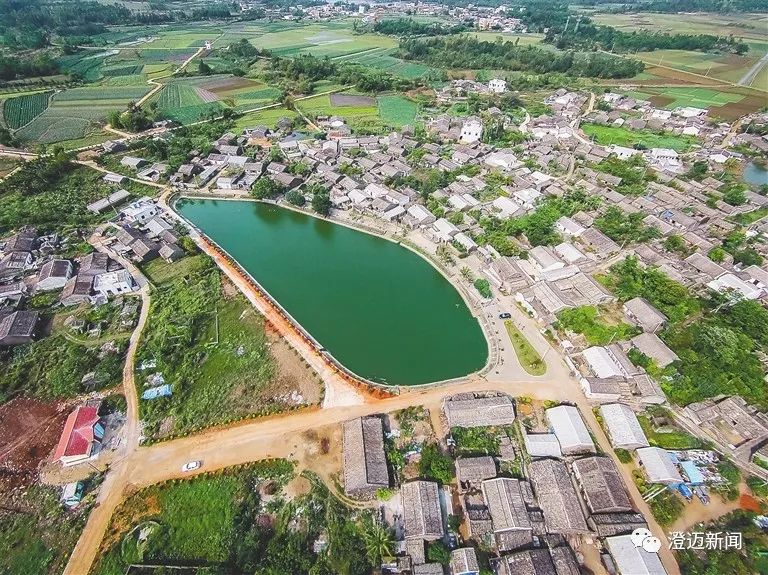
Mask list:
[[[377,490],[389,487],[382,421],[376,416],[363,417],[344,422],[342,429],[344,492],[372,498]]]

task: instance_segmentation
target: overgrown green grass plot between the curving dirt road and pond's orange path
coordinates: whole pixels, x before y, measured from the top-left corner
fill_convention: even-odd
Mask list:
[[[138,371],[137,386],[158,372],[173,395],[141,402],[145,433],[181,435],[280,409],[267,389],[275,363],[263,319],[240,294],[225,296],[213,261],[153,262],[147,274],[156,288],[137,366],[154,360],[156,368]]]

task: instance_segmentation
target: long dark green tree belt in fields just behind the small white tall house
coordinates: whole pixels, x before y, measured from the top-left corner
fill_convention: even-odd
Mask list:
[[[610,54],[553,53],[535,46],[483,42],[468,36],[403,39],[398,55],[445,68],[557,72],[591,78],[631,78],[644,68],[642,62]]]

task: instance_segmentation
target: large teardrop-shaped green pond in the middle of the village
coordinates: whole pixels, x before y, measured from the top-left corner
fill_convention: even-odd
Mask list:
[[[477,319],[410,250],[269,204],[184,199],[176,209],[354,373],[416,385],[485,365]]]

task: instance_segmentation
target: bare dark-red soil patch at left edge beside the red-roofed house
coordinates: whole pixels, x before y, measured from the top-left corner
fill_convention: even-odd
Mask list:
[[[0,491],[37,479],[68,414],[65,404],[23,397],[0,405]]]

